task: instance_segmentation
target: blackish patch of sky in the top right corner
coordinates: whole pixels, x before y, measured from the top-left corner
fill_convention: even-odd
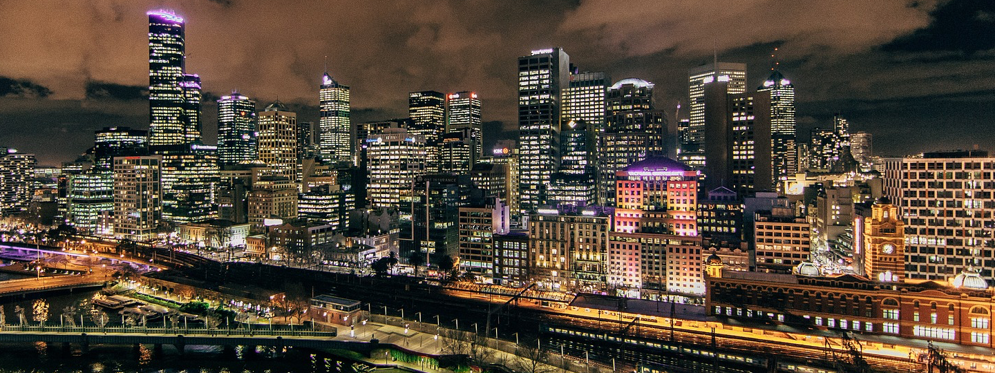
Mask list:
[[[897,38],[885,51],[959,52],[995,49],[995,2],[952,0],[930,13],[929,26]]]

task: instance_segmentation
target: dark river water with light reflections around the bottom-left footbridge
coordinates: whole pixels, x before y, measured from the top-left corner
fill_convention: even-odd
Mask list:
[[[15,306],[25,308],[25,316],[35,324],[43,318],[48,324],[59,324],[67,306],[76,307],[79,322],[83,314],[87,323],[100,307],[91,299],[97,291],[42,295],[37,298],[0,298],[6,313],[6,323],[16,324]],[[111,316],[113,325],[114,317]],[[117,324],[119,324],[119,319]],[[80,346],[66,350],[61,344],[0,343],[0,373],[352,373],[360,368],[353,361],[303,349],[291,349],[277,354],[269,347],[239,346],[225,350],[221,346],[186,346],[185,354],[169,345],[160,352],[151,345],[119,346],[92,345],[84,353]]]

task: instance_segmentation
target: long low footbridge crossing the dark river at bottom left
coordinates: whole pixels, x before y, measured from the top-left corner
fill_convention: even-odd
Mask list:
[[[0,326],[0,342],[90,344],[172,344],[183,346],[257,345],[274,347],[336,348],[369,353],[376,343],[336,340],[334,331],[271,329],[207,329],[100,326]],[[382,347],[381,347],[382,348]]]

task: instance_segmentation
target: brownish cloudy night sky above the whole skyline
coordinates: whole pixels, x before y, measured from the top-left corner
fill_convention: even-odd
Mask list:
[[[687,101],[688,69],[748,65],[748,87],[781,72],[799,137],[835,111],[874,133],[877,155],[995,150],[995,2],[907,1],[5,1],[0,145],[41,164],[74,159],[102,126],[148,127],[147,16],[186,19],[187,72],[213,100],[233,89],[317,120],[328,72],[352,88],[352,120],[407,116],[407,93],[475,91],[488,143],[515,138],[516,59],[563,47],[583,71],[657,85]],[[687,106],[687,105],[686,105]]]

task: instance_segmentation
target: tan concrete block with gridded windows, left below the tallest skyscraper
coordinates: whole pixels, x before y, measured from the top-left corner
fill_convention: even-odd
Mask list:
[[[162,214],[159,155],[114,158],[114,237],[150,240]]]

